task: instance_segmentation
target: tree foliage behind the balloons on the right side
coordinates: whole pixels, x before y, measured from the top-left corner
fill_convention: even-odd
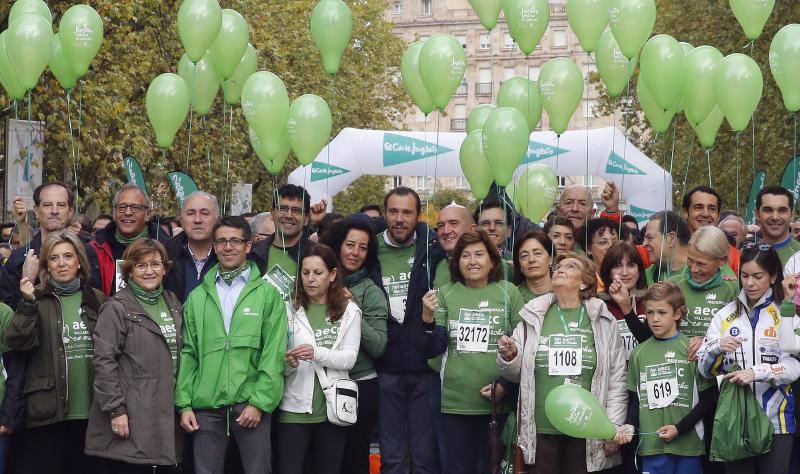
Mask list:
[[[680,204],[679,199],[685,189],[711,182],[722,194],[724,207],[738,208],[744,212],[755,171],[765,169],[767,184],[779,184],[783,167],[792,156],[792,115],[783,106],[780,91],[769,69],[768,55],[769,44],[775,33],[788,23],[800,21],[800,5],[797,2],[776,2],[761,37],[752,47],[744,47],[747,39],[727,1],[658,0],[657,4],[658,18],[654,34],[668,34],[694,46],[711,45],[724,55],[745,52],[758,63],[764,76],[764,92],[756,110],[755,126],[737,136],[727,122],[723,123],[710,152],[709,165],[683,114],[673,118],[667,133],[654,136],[635,99],[636,75],[630,81],[627,110],[631,113],[627,118],[617,114],[620,126],[624,127],[627,119],[631,142],[665,169],[672,169],[674,205]],[[599,77],[593,75],[593,82],[599,84]],[[625,103],[625,92],[619,101],[615,101],[602,85],[600,90],[600,114],[610,115],[618,105]]]

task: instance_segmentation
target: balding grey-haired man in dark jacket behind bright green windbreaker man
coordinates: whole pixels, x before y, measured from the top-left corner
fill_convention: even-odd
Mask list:
[[[172,268],[164,277],[164,288],[183,303],[217,263],[211,231],[219,217],[219,201],[213,194],[195,191],[183,201],[180,216],[183,232],[165,244]]]

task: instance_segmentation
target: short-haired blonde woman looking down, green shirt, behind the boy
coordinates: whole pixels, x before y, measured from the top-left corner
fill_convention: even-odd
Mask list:
[[[714,226],[697,229],[689,239],[686,268],[670,278],[686,298],[686,317],[680,331],[689,336],[689,358],[694,359],[708,326],[717,311],[736,300],[736,282],[723,278],[722,268],[728,262],[730,245],[725,233]]]

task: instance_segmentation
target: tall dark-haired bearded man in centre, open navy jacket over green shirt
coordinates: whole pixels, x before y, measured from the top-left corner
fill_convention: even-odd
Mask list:
[[[378,366],[384,474],[405,473],[407,454],[415,474],[440,472],[421,302],[445,253],[419,222],[421,209],[413,189],[393,189],[384,200],[387,229],[378,234],[378,260],[391,316],[386,351]]]

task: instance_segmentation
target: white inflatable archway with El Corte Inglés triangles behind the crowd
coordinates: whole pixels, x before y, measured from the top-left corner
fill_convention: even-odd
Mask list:
[[[458,151],[465,137],[463,132],[440,133],[437,158],[433,132],[346,128],[322,150],[316,161],[294,170],[289,182],[304,186],[312,202],[327,199],[332,203],[333,195],[362,175],[464,176]],[[519,171],[530,163],[545,163],[557,175],[589,174],[614,181],[628,202],[628,213],[640,222],[655,212],[672,209],[670,174],[613,127],[588,133],[568,131],[558,142],[553,132],[534,132]]]

